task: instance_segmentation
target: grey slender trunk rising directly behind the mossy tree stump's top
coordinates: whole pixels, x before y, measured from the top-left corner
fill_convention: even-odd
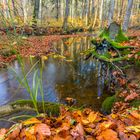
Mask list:
[[[110,9],[109,9],[109,15],[108,15],[108,26],[112,22],[113,14],[114,14],[114,6],[115,6],[115,0],[110,1]]]

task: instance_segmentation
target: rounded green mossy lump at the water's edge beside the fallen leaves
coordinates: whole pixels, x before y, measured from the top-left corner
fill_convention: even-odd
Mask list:
[[[105,113],[111,113],[111,108],[116,100],[115,95],[111,97],[107,97],[104,102],[102,103],[102,110]]]

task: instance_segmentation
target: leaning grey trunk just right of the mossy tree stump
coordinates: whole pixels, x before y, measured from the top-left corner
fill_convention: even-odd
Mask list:
[[[127,5],[124,21],[123,21],[123,26],[122,26],[123,31],[127,31],[128,29],[132,6],[133,6],[133,0],[128,0],[128,5]]]

